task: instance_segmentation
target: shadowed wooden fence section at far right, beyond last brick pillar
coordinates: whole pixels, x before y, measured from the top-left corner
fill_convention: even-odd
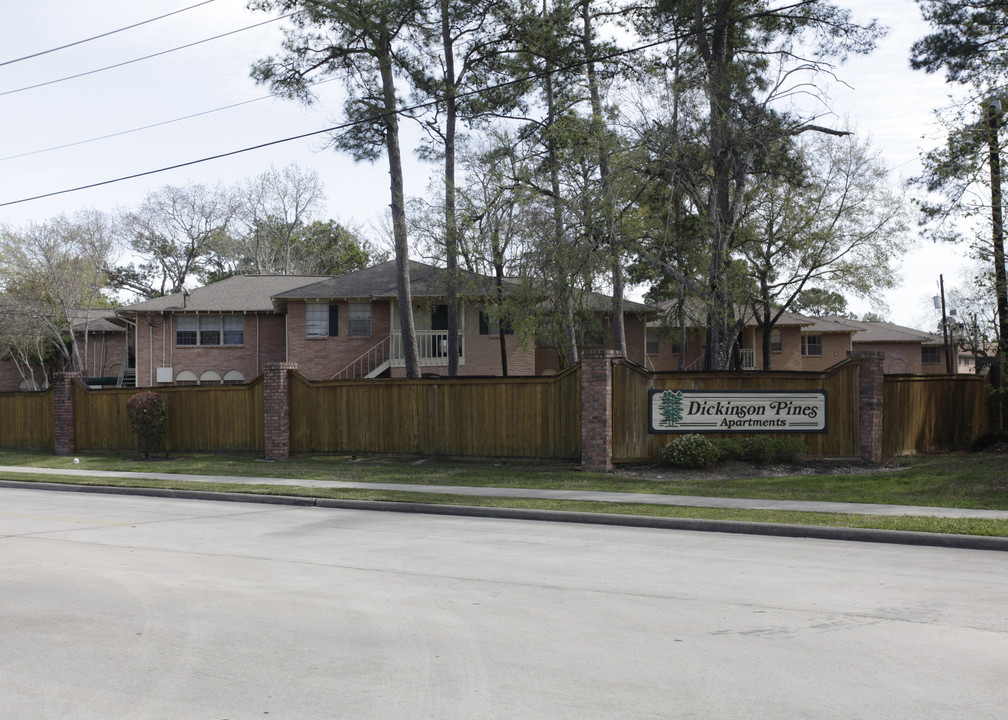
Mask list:
[[[886,457],[964,445],[990,431],[990,388],[982,377],[887,376],[882,452]]]

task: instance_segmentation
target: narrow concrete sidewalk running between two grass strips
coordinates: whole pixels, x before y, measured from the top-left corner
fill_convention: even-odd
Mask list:
[[[183,475],[179,473],[117,472],[107,470],[74,470],[0,466],[12,473],[32,475],[64,475],[87,478],[170,480],[175,482],[232,483],[236,485],[279,485],[288,487],[331,487],[361,490],[394,490],[474,497],[539,498],[545,500],[587,500],[591,502],[641,503],[679,505],[684,507],[721,507],[753,510],[795,510],[799,512],[833,512],[858,515],[923,515],[929,517],[975,517],[1005,520],[1008,510],[983,510],[960,507],[929,507],[922,505],[880,505],[863,502],[815,502],[811,500],[760,500],[696,495],[657,495],[635,492],[600,492],[593,490],[540,490],[511,487],[469,487],[456,485],[410,485],[404,483],[347,482],[342,480],[307,480],[296,478],[242,477],[233,475]]]

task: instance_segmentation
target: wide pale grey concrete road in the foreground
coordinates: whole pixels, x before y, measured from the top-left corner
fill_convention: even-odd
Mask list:
[[[0,490],[0,716],[1002,718],[1008,554]]]

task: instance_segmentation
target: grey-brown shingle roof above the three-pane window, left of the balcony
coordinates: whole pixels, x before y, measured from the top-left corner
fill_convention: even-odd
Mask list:
[[[272,313],[273,295],[320,280],[325,275],[234,275],[182,292],[154,297],[120,309],[131,313]]]

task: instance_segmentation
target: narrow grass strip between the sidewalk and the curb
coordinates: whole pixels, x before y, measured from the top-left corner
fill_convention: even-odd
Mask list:
[[[68,485],[104,487],[142,487],[171,490],[202,490],[208,492],[243,493],[249,495],[284,495],[320,497],[376,502],[410,502],[430,505],[477,507],[510,507],[564,512],[599,512],[650,517],[681,517],[739,522],[767,522],[827,527],[861,527],[909,532],[937,532],[965,535],[1008,537],[1008,520],[928,517],[917,515],[862,515],[833,512],[796,512],[792,510],[747,510],[720,507],[685,507],[625,502],[592,502],[583,500],[540,500],[536,498],[502,498],[470,495],[447,495],[424,492],[389,490],[292,487],[288,485],[244,485],[236,483],[204,483],[172,480],[81,478],[68,475],[26,475],[0,471],[0,479]]]

